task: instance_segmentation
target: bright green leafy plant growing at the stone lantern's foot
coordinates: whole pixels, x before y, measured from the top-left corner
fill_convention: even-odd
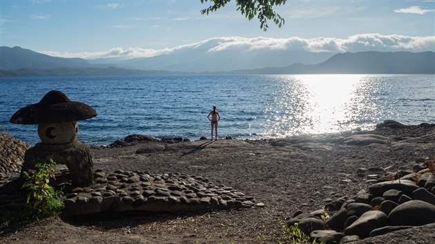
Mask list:
[[[64,202],[60,198],[63,192],[48,185],[50,178],[55,179],[56,163],[50,159],[50,163],[38,163],[35,167],[36,171],[23,172],[26,181],[22,188],[28,192],[26,203],[34,210],[36,218],[55,216],[64,208]]]

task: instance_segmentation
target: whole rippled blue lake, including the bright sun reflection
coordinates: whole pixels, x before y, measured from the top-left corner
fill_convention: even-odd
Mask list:
[[[434,75],[267,75],[0,78],[0,128],[30,144],[37,125],[10,116],[60,90],[98,116],[79,121],[79,139],[110,144],[128,134],[210,137],[213,105],[219,137],[260,139],[373,128],[385,119],[435,123]]]

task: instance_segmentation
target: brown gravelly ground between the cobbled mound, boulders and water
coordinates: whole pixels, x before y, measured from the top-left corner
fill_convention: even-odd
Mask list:
[[[106,213],[60,216],[1,233],[7,243],[278,243],[280,221],[312,212],[325,199],[354,196],[368,184],[360,167],[403,167],[435,156],[435,127],[414,126],[275,140],[141,142],[93,147],[94,169],[203,176],[254,196],[264,207],[190,213]],[[355,136],[370,139],[356,140]],[[378,143],[367,144],[379,137]],[[351,140],[353,139],[353,140]],[[137,154],[137,150],[146,153]],[[345,181],[343,181],[345,180]],[[435,225],[393,232],[358,243],[435,243]]]

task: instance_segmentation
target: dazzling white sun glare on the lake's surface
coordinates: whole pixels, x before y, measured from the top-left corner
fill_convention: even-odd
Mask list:
[[[364,75],[303,74],[276,76],[276,79],[281,80],[280,87],[274,94],[275,104],[267,106],[265,113],[269,118],[263,124],[269,136],[320,134],[364,127],[356,121],[369,109],[363,94],[370,80]]]

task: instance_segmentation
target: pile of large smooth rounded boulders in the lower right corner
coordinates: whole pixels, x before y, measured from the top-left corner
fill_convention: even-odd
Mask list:
[[[427,159],[413,170],[395,167],[360,168],[356,174],[371,183],[354,197],[343,196],[324,210],[293,214],[287,225],[298,223],[311,239],[322,243],[350,243],[413,226],[435,223],[435,162]],[[374,174],[378,172],[378,174]],[[325,218],[325,212],[335,212]],[[323,219],[322,219],[323,216]]]

